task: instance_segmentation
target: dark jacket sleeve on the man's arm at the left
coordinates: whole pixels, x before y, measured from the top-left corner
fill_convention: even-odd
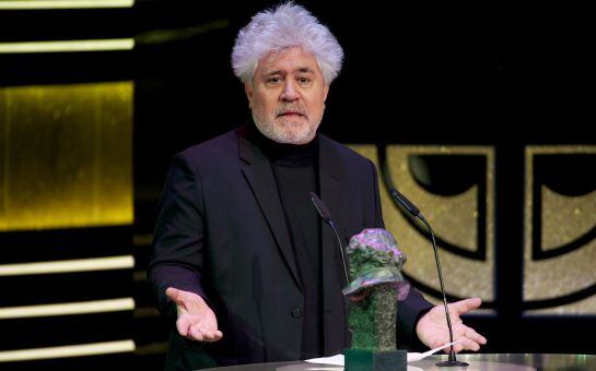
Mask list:
[[[180,154],[170,166],[153,236],[148,277],[160,312],[176,321],[176,307],[165,296],[168,287],[206,299],[203,272],[204,205],[198,171]]]

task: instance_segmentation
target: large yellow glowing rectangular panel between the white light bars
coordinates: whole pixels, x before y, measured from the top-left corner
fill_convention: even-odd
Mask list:
[[[0,231],[131,224],[133,83],[0,88]]]

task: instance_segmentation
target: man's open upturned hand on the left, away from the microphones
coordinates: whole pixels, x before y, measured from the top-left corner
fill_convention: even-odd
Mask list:
[[[165,295],[176,303],[178,334],[191,340],[209,343],[223,337],[222,332],[218,330],[215,313],[200,296],[174,287],[168,287]]]

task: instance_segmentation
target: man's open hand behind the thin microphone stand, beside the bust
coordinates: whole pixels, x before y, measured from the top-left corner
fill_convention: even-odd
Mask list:
[[[484,336],[466,326],[459,318],[459,315],[477,309],[481,303],[480,298],[471,298],[447,304],[453,326],[453,340],[464,339],[453,346],[455,352],[464,349],[476,351],[480,349],[480,345],[487,344]],[[449,343],[449,328],[447,327],[444,306],[436,306],[422,315],[416,325],[416,333],[418,338],[431,349]],[[445,351],[448,352],[449,348],[446,348]]]

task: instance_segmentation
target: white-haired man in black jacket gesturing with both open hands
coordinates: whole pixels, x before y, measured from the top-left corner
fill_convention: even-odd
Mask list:
[[[166,368],[297,360],[349,346],[335,237],[309,203],[316,192],[348,239],[382,228],[374,165],[317,133],[343,52],[304,8],[285,3],[243,28],[233,67],[254,124],[174,157],[155,229],[150,280],[175,325]],[[414,262],[416,263],[416,262]],[[456,346],[486,339],[451,304]],[[447,343],[442,307],[410,290],[398,343]]]

